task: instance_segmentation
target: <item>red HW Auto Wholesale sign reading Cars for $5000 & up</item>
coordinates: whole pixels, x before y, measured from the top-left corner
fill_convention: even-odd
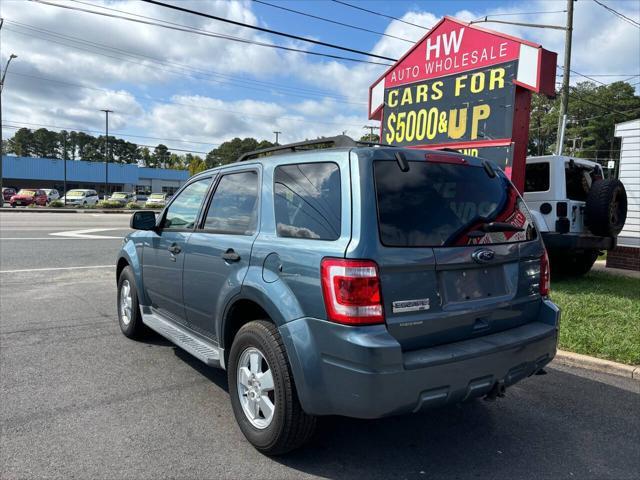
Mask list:
[[[453,148],[524,182],[531,92],[555,94],[556,54],[445,17],[369,89],[381,142]]]

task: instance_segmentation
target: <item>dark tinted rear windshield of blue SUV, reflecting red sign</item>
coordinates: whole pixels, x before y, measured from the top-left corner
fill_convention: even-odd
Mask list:
[[[482,167],[432,162],[410,162],[410,167],[403,173],[396,162],[374,162],[383,245],[463,246],[535,238],[529,211],[502,173],[491,178]]]

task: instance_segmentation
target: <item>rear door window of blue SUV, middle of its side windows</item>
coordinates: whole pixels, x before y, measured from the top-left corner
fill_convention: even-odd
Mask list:
[[[257,172],[230,173],[220,179],[204,228],[213,233],[252,235],[258,222]]]

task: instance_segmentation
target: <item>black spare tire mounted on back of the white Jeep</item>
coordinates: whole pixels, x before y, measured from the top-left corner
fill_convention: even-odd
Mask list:
[[[620,180],[593,182],[587,196],[585,222],[594,235],[616,236],[627,219],[627,192]]]

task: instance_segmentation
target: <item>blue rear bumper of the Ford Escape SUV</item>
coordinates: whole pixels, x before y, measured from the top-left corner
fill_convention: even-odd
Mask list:
[[[560,311],[500,333],[402,352],[384,326],[302,318],[280,327],[304,410],[379,418],[456,403],[526,378],[556,353]]]

